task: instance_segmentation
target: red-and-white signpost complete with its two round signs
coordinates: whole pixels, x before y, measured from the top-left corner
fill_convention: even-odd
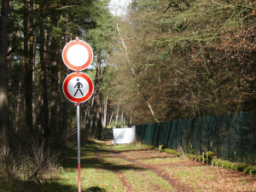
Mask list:
[[[76,40],[69,42],[62,49],[62,60],[68,68],[77,71],[77,73],[71,73],[67,76],[63,82],[62,90],[69,101],[77,103],[79,192],[81,192],[79,105],[80,102],[86,102],[90,99],[94,87],[90,77],[84,73],[79,73],[79,71],[90,66],[93,60],[93,51],[89,44],[76,37]]]

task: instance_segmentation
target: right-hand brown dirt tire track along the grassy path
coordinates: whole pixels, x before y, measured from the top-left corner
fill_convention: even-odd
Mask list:
[[[125,154],[119,153],[119,151],[116,151],[113,149],[113,146],[111,146],[109,151],[121,159],[128,160],[131,163],[134,163],[136,166],[139,166],[139,167],[142,167],[143,169],[147,169],[151,172],[154,172],[157,176],[162,177],[163,179],[166,180],[166,182],[170,183],[172,185],[172,188],[175,189],[176,191],[182,191],[182,192],[194,191],[193,189],[189,189],[189,187],[177,181],[177,179],[173,179],[172,176],[166,173],[166,171],[160,169],[160,167],[143,164],[142,162],[135,160],[131,156],[128,157]]]

